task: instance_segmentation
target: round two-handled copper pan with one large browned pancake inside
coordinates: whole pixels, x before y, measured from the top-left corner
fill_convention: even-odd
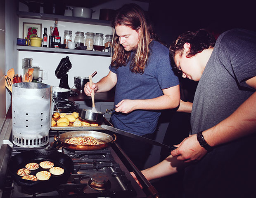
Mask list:
[[[72,137],[83,137],[83,136],[92,136],[106,143],[98,144],[98,145],[76,145],[76,144],[68,144],[65,142],[66,139],[70,139]],[[59,142],[62,145],[62,147],[66,149],[92,151],[92,150],[105,149],[109,147],[111,143],[116,141],[116,135],[114,135],[113,137],[107,133],[97,132],[93,130],[75,130],[75,131],[62,133],[58,137],[55,136],[55,140]]]

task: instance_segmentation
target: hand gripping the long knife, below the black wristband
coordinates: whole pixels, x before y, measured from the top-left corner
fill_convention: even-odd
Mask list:
[[[171,151],[171,155],[178,156],[177,160],[179,161],[199,161],[207,153],[206,149],[201,147],[197,141],[197,134],[190,135],[175,146],[178,148]]]

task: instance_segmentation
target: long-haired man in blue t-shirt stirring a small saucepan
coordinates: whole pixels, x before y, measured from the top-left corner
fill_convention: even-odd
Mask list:
[[[145,12],[136,4],[116,11],[112,28],[114,54],[109,74],[85,85],[85,94],[109,91],[116,86],[114,127],[153,138],[161,109],[179,105],[178,77],[171,68],[168,48],[159,42]],[[151,146],[123,136],[118,143],[138,168],[143,168]]]

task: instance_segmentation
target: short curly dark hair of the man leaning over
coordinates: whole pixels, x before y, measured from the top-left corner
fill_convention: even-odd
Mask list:
[[[195,56],[204,49],[214,47],[215,42],[216,39],[214,38],[214,36],[205,29],[187,31],[181,34],[177,38],[177,40],[175,40],[175,42],[171,44],[169,48],[169,55],[171,58],[171,65],[173,69],[175,69],[176,71],[180,71],[175,65],[174,56],[176,54],[180,54],[180,56],[183,54],[183,46],[185,43],[190,43],[190,52],[186,54],[186,57],[191,58],[192,56]]]

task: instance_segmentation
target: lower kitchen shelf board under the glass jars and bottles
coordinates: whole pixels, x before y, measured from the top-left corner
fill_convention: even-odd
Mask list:
[[[91,56],[111,56],[110,52],[78,50],[78,49],[60,49],[60,48],[31,47],[31,46],[20,46],[20,45],[17,45],[16,49],[19,51],[52,52],[52,53],[59,53],[59,54],[83,54],[83,55],[91,55]]]

